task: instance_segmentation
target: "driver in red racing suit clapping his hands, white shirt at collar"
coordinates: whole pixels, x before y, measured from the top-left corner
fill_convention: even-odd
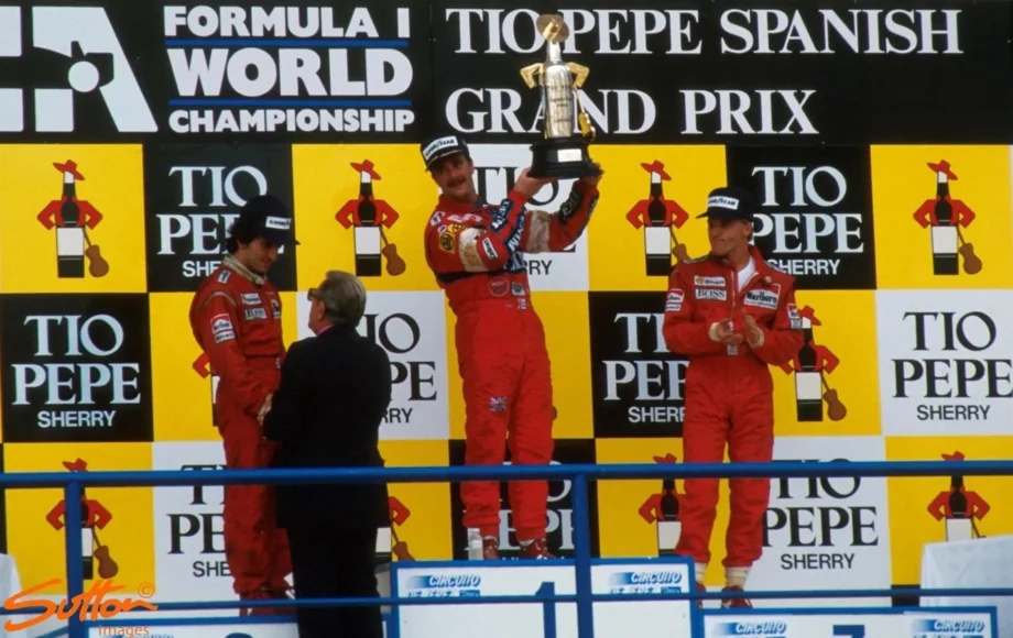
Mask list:
[[[686,463],[770,462],[774,452],[770,365],[791,361],[803,345],[795,278],[766,264],[749,244],[755,206],[742,189],[708,198],[710,254],[672,268],[663,333],[668,349],[689,358],[686,372]],[[732,479],[726,536],[726,592],[745,587],[763,551],[770,479]],[[718,480],[687,479],[683,529],[675,553],[696,563],[697,588],[710,560]],[[726,607],[750,607],[744,597]]]

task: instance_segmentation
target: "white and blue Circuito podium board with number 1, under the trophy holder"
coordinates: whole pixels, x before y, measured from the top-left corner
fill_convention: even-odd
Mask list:
[[[400,638],[470,638],[476,631],[489,638],[577,638],[576,603],[533,600],[526,604],[504,605],[473,602],[490,596],[573,595],[576,593],[574,561],[480,564],[473,566],[473,561],[394,563],[394,596],[469,598],[462,604],[434,601],[435,604],[403,605],[393,612],[392,620]],[[671,596],[689,592],[691,565],[691,560],[679,557],[591,559],[592,593],[660,596],[656,602],[639,597],[630,602],[595,603],[596,638],[649,635],[660,627],[672,636],[690,636],[690,603]]]

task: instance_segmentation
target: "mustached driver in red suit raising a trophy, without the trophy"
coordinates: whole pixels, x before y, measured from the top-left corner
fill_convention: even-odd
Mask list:
[[[437,136],[422,155],[443,194],[425,229],[426,262],[457,316],[455,342],[465,396],[465,464],[548,464],[553,454],[553,397],[542,321],[531,302],[521,253],[562,251],[584,232],[598,202],[601,175],[574,184],[556,215],[526,208],[553,179],[525,169],[500,204],[480,200],[467,144]],[[508,486],[522,558],[552,558],[546,547],[545,481]],[[461,485],[464,526],[481,536],[482,558],[499,558],[500,486]],[[478,557],[472,557],[478,558]]]

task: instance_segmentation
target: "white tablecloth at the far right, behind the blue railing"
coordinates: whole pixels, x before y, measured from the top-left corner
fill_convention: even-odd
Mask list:
[[[1013,587],[1013,536],[927,543],[922,551],[922,587]],[[923,597],[922,606],[995,606],[1000,638],[1013,636],[1013,595]]]

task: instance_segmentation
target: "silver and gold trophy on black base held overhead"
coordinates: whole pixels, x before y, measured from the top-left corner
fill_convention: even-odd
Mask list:
[[[590,72],[586,66],[563,62],[560,43],[569,35],[569,28],[562,15],[543,14],[535,24],[545,37],[545,62],[525,66],[521,77],[527,88],[533,89],[536,84],[542,86],[545,128],[543,139],[531,145],[529,175],[562,179],[598,175],[600,170],[587,151],[588,144],[595,141],[595,127],[577,94]],[[574,131],[575,120],[580,127],[579,133]]]

